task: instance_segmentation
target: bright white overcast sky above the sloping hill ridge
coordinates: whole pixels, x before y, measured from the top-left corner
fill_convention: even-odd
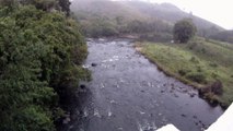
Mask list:
[[[149,1],[149,0],[144,0]],[[150,0],[162,3],[170,2],[186,12],[211,21],[226,29],[233,29],[232,0]]]

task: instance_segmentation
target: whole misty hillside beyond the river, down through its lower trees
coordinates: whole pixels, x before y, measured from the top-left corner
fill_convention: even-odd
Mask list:
[[[224,31],[222,27],[203,19],[186,13],[171,3],[149,3],[142,1],[109,1],[109,0],[74,0],[71,10],[78,16],[85,34],[101,32],[108,33],[148,33],[154,29],[158,34],[171,34],[174,23],[184,17],[193,19],[200,36],[210,36]],[[98,27],[93,27],[96,25]],[[136,31],[132,27],[141,26]],[[150,27],[148,27],[150,26]],[[151,27],[153,26],[153,27]],[[104,29],[103,29],[104,27]],[[148,28],[147,32],[143,31]],[[152,31],[150,31],[152,32]],[[101,35],[106,35],[101,33]],[[154,34],[153,34],[154,35]]]

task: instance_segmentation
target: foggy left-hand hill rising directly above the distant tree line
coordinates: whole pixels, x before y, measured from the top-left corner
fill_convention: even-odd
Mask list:
[[[72,1],[71,10],[78,16],[82,13],[89,13],[88,16],[95,14],[108,19],[114,19],[116,16],[127,17],[127,20],[147,17],[144,14],[140,13],[139,10],[129,4],[108,0],[74,0]]]

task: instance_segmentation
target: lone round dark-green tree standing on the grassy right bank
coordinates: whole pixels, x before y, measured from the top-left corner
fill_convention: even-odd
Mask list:
[[[195,24],[189,19],[178,21],[173,28],[174,39],[178,43],[187,43],[195,36],[197,29]]]

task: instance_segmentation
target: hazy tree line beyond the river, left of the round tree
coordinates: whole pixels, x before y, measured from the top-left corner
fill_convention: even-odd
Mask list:
[[[86,37],[107,37],[119,36],[124,34],[135,34],[144,39],[172,39],[172,25],[159,20],[129,21],[127,17],[123,16],[109,19],[93,14],[88,17],[85,14],[82,14],[78,15],[78,21],[80,23],[82,33]]]

